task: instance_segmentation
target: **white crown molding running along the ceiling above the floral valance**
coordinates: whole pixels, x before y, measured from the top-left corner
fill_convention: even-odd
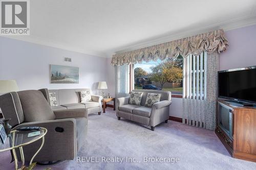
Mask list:
[[[160,43],[165,43],[165,42],[169,42],[169,41],[173,41],[173,40],[177,40],[177,39],[181,39],[181,38],[185,38],[185,37],[189,37],[189,36],[193,36],[201,33],[206,33],[206,32],[210,32],[218,29],[229,31],[229,30],[239,29],[239,28],[252,26],[252,25],[256,25],[256,15],[250,15],[250,16],[245,16],[245,17],[225,21],[225,22],[220,22],[215,25],[210,25],[204,28],[194,29],[192,31],[191,30],[185,31],[182,33],[176,33],[169,36],[163,36],[160,38],[155,38],[153,40],[146,40],[144,42],[121,47],[116,51],[112,51],[112,52],[109,51],[108,56],[112,57],[113,54],[119,54],[119,53],[129,52],[133,50],[138,50],[140,48],[157,45]]]

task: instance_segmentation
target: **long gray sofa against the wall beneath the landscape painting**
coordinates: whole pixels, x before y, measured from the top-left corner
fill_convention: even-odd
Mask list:
[[[82,90],[90,89],[58,89],[49,90],[49,92],[54,92],[56,94],[56,100],[58,106],[52,106],[52,110],[66,110],[66,109],[86,109],[87,113],[98,113],[102,111],[102,96],[92,95],[92,101],[81,103],[79,92]],[[90,90],[91,91],[91,90]]]

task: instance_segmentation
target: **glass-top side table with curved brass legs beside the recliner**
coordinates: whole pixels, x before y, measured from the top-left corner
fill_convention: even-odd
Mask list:
[[[42,144],[40,148],[30,160],[30,164],[32,164],[33,159],[39,153],[39,151],[41,150],[42,146],[45,143],[45,135],[47,133],[46,128],[40,128],[40,135],[28,137],[28,134],[31,132],[35,132],[35,130],[30,130],[30,131],[13,130],[11,131],[10,136],[6,138],[5,143],[0,145],[0,152],[12,150],[14,161],[15,161],[15,169],[18,169],[18,159],[17,159],[15,149],[19,149],[20,157],[22,159],[22,165],[24,166],[25,158],[23,153],[23,146],[28,145],[42,138]]]

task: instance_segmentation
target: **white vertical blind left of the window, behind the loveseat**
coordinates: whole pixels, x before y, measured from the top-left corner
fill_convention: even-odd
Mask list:
[[[115,66],[116,97],[126,96],[130,91],[130,65]]]

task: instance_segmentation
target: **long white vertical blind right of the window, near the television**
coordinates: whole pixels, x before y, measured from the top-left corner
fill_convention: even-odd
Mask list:
[[[201,128],[205,123],[206,55],[183,59],[183,123]]]

